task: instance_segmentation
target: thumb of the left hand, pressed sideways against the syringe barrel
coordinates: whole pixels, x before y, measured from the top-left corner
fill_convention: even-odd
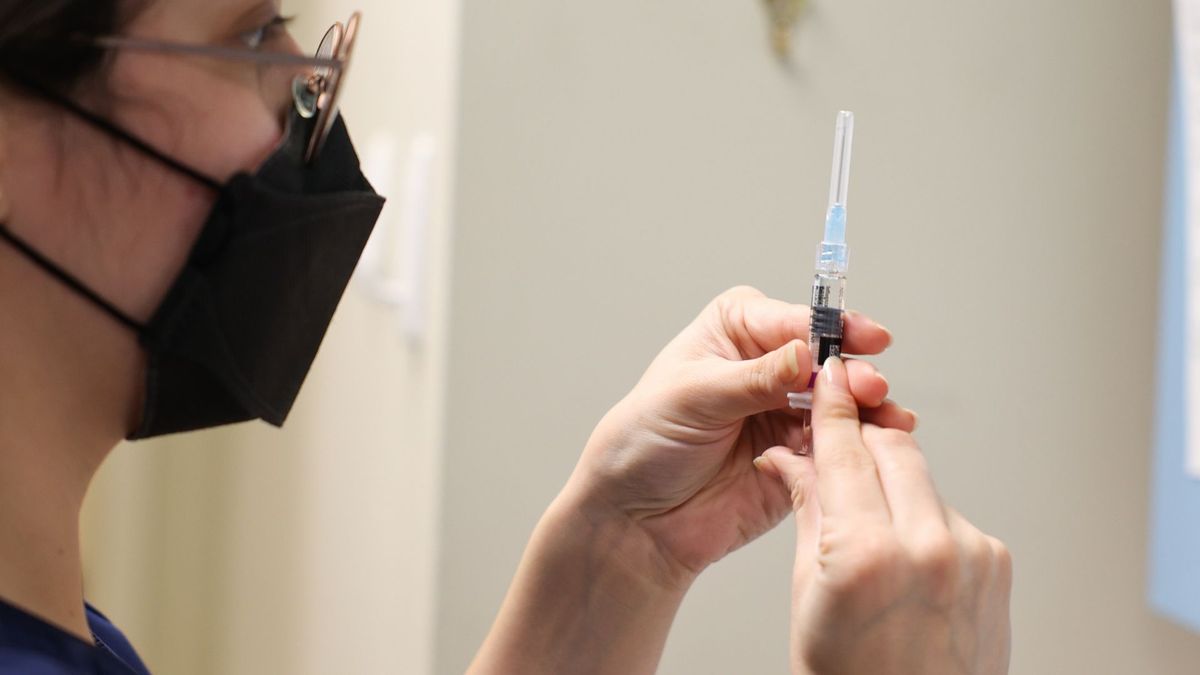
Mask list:
[[[692,390],[707,417],[725,423],[787,407],[787,394],[808,389],[812,357],[803,340],[792,340],[756,359],[724,362]]]

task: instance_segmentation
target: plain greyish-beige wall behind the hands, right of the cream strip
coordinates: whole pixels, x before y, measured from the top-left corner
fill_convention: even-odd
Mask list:
[[[851,303],[1013,548],[1013,673],[1195,673],[1144,602],[1169,2],[812,0],[790,68],[760,5],[464,2],[436,671],[654,352],[727,286],[804,299],[848,108]],[[661,671],[785,671],[791,548],[708,572]]]

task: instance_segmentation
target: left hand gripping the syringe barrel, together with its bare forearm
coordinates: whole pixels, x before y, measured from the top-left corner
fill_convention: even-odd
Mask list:
[[[654,673],[696,575],[792,513],[754,460],[799,447],[787,394],[809,386],[808,334],[808,307],[734,288],[671,341],[596,426],[469,673]],[[890,342],[846,315],[847,353]],[[914,426],[874,366],[847,369],[863,419]]]

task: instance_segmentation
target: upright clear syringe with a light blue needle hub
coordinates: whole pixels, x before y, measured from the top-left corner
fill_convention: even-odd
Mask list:
[[[833,179],[829,185],[829,211],[826,214],[824,240],[817,246],[816,274],[812,277],[809,351],[812,352],[812,377],[809,390],[787,395],[793,408],[812,410],[812,383],[829,357],[841,356],[842,313],[846,309],[846,197],[850,192],[850,151],[854,141],[854,113],[838,113],[838,131],[833,142]],[[804,447],[811,450],[809,413],[804,413]]]

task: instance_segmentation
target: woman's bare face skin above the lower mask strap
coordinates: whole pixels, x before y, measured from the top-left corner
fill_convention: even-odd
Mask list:
[[[278,12],[271,0],[152,0],[122,32],[298,53]],[[295,74],[248,60],[120,50],[74,97],[223,181],[271,154]],[[0,95],[0,222],[127,315],[149,319],[212,191],[53,103]]]

